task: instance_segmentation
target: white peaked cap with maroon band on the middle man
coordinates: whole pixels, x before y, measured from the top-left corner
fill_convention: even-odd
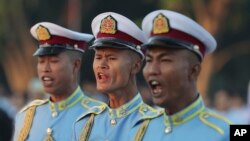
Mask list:
[[[140,45],[147,38],[130,19],[114,12],[105,12],[93,19],[91,27],[96,40],[90,48],[128,48],[144,57]]]

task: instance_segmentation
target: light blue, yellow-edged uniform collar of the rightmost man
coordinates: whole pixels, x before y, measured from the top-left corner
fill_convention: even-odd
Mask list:
[[[199,114],[203,109],[205,108],[204,103],[202,101],[201,96],[199,96],[192,104],[190,104],[185,109],[181,110],[180,112],[168,116],[167,114],[164,114],[165,119],[165,125],[170,126],[173,125],[179,125],[182,124],[193,117],[195,117],[197,114]]]

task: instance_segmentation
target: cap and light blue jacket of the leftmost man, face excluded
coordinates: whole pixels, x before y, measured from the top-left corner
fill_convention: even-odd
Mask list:
[[[34,56],[57,55],[64,50],[83,53],[93,38],[49,22],[34,25],[31,34],[39,42]],[[85,98],[78,86],[69,97],[58,102],[32,101],[16,116],[14,140],[69,141],[74,121],[87,110],[81,105]]]

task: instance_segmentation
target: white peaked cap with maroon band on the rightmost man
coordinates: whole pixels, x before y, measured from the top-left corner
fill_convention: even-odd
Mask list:
[[[170,10],[156,10],[146,15],[142,30],[149,37],[145,47],[154,45],[154,40],[165,40],[193,51],[201,59],[217,45],[214,37],[198,23]]]

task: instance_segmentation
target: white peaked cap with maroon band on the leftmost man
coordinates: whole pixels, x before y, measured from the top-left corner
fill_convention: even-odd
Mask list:
[[[91,34],[72,31],[49,22],[35,24],[30,32],[39,42],[34,56],[58,54],[65,49],[84,52],[94,38]]]

